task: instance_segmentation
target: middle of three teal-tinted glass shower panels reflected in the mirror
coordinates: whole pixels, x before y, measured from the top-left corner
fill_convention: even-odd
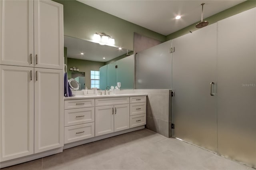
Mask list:
[[[111,86],[116,86],[116,62],[108,64],[107,69],[107,86],[110,89]],[[106,87],[105,87],[106,88]]]

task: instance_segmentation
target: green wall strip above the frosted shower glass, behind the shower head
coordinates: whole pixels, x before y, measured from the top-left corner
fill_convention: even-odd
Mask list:
[[[254,7],[256,7],[256,0],[247,0],[247,1],[242,2],[242,3],[240,3],[240,4],[236,5],[236,6],[228,8],[228,9],[222,11],[222,12],[214,14],[214,15],[208,17],[208,18],[204,18],[204,21],[206,20],[206,21],[209,22],[209,24],[213,24],[215,22],[218,22],[220,20],[223,20],[225,18],[228,18],[230,16],[233,16],[235,14],[238,14],[240,12],[249,10],[251,8],[254,8]],[[198,22],[200,22],[200,21],[198,21]],[[196,22],[196,23],[194,23],[194,24],[192,24],[190,26],[187,26],[187,27],[185,27],[185,28],[183,28],[181,30],[178,30],[178,31],[176,31],[176,32],[174,32],[172,34],[169,34],[168,36],[166,36],[166,41],[172,40],[172,39],[180,37],[180,36],[183,36],[185,34],[188,34],[188,33],[190,33],[189,32],[190,30],[192,32],[197,30],[196,24],[198,22]]]

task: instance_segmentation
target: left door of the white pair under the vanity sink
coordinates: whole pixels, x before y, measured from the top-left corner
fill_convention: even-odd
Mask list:
[[[95,136],[114,132],[114,106],[95,107]]]

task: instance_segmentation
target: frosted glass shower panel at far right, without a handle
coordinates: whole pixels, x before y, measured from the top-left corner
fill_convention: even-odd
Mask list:
[[[218,22],[218,153],[256,167],[256,8]]]

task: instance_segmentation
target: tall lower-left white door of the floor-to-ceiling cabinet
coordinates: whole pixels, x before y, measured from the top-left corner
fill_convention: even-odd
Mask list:
[[[0,160],[34,153],[34,73],[0,65]]]

